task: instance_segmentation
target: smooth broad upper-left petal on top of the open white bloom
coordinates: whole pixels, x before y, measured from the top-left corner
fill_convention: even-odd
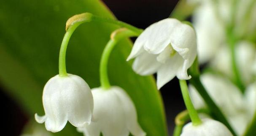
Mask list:
[[[170,36],[178,24],[175,18],[166,18],[149,26],[143,33],[147,33],[144,49],[151,54],[159,54],[170,44]]]

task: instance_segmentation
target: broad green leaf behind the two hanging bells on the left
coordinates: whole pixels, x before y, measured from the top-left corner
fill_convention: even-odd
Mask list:
[[[75,14],[90,12],[113,18],[98,0],[2,0],[0,2],[0,84],[31,117],[43,115],[42,91],[58,74],[58,55],[65,22]],[[67,72],[81,76],[91,88],[100,86],[100,55],[118,26],[82,24],[67,49]],[[126,58],[132,43],[122,40],[109,61],[112,85],[124,88],[137,108],[138,120],[148,136],[167,136],[164,107],[152,76],[141,77]],[[68,124],[59,136],[76,136]]]

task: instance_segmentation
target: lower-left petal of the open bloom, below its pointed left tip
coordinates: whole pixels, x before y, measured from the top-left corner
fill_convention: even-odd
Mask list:
[[[144,51],[132,64],[132,69],[140,75],[150,75],[156,73],[161,63],[156,60],[156,55]]]

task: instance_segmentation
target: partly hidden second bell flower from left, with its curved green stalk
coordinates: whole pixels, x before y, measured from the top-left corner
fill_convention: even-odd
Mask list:
[[[108,59],[120,39],[139,35],[126,28],[117,29],[103,50],[100,60],[101,87],[92,89],[94,97],[94,120],[89,126],[78,127],[85,136],[146,136],[137,122],[136,108],[128,94],[118,86],[111,86],[108,80]]]

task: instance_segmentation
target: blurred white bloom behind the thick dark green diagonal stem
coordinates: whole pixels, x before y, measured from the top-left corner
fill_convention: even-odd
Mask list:
[[[250,118],[245,101],[240,90],[228,79],[214,74],[205,73],[200,80],[205,86],[210,97],[220,107],[231,126],[238,134],[245,131]],[[197,93],[194,86],[189,86],[191,100],[196,109],[206,107],[202,97]]]

